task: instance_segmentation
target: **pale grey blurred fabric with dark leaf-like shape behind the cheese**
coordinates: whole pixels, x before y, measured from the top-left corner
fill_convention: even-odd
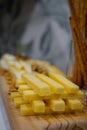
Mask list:
[[[69,62],[71,32],[67,0],[41,0],[27,22],[21,43],[32,49],[28,55],[50,61],[64,72]]]

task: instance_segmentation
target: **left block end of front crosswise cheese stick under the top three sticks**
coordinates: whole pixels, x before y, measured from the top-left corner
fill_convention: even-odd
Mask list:
[[[38,96],[33,90],[25,90],[23,91],[23,99],[30,102],[32,100],[40,99],[40,96]]]

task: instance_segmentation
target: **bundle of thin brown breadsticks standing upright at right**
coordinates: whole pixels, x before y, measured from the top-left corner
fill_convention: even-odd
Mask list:
[[[87,88],[87,0],[69,0],[75,48],[73,82]]]

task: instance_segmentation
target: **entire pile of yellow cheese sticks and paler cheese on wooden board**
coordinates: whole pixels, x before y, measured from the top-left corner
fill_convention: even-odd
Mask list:
[[[34,63],[37,64],[35,70],[31,65]],[[18,108],[23,116],[83,111],[80,99],[84,98],[84,93],[79,86],[69,81],[55,66],[46,62],[42,63],[17,60],[11,55],[2,57],[1,67],[7,68],[3,71],[3,75],[6,76],[10,101],[15,108]],[[47,73],[41,73],[43,70]],[[7,74],[7,71],[10,73]],[[10,86],[13,79],[14,91]]]

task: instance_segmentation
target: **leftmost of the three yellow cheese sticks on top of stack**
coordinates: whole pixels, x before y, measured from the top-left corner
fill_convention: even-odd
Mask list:
[[[29,85],[31,84],[32,88],[37,92],[38,95],[47,96],[47,95],[51,94],[51,90],[50,90],[49,85],[42,82],[34,75],[24,74],[22,77],[26,83],[28,83]]]

